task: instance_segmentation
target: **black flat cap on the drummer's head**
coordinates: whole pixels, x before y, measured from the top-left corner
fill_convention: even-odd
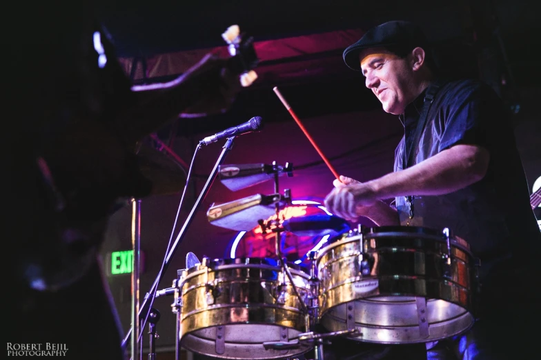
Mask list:
[[[359,53],[366,48],[385,46],[416,46],[426,47],[428,41],[422,29],[409,21],[388,21],[364,33],[362,38],[344,50],[344,62],[353,69],[360,71]],[[425,49],[426,50],[426,49]]]

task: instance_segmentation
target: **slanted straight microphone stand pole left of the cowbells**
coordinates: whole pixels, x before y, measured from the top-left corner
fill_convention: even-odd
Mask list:
[[[169,264],[170,264],[170,260],[171,258],[173,257],[173,254],[175,254],[181,240],[184,238],[184,235],[186,234],[186,229],[188,228],[188,226],[190,226],[190,223],[192,223],[193,221],[193,218],[195,216],[195,212],[197,211],[197,208],[199,208],[199,206],[201,205],[201,202],[205,199],[206,197],[206,194],[208,193],[208,190],[210,189],[210,186],[212,185],[212,183],[214,182],[214,180],[216,179],[216,176],[217,176],[217,173],[218,173],[218,169],[219,169],[219,166],[222,165],[222,163],[224,162],[224,159],[226,157],[226,155],[228,154],[228,152],[231,150],[231,148],[233,148],[233,139],[235,139],[235,137],[228,137],[226,143],[224,144],[224,147],[222,148],[222,152],[219,154],[219,157],[215,163],[215,166],[213,168],[213,170],[210,172],[210,175],[208,176],[208,179],[203,187],[203,189],[201,190],[201,193],[199,194],[199,197],[197,198],[197,200],[195,201],[194,205],[193,205],[193,208],[192,210],[190,211],[190,214],[188,214],[188,217],[186,218],[186,221],[184,221],[184,226],[182,226],[178,236],[177,236],[177,239],[175,240],[175,243],[173,243],[173,246],[171,246],[171,249],[169,251],[169,253],[167,254],[166,256],[166,259],[164,261],[164,268],[163,268],[163,271],[159,272],[158,276],[156,277],[154,283],[153,283],[153,286],[152,288],[150,288],[150,291],[147,292],[145,298],[144,298],[144,301],[141,303],[141,306],[139,308],[139,321],[143,320],[144,319],[141,319],[141,315],[143,314],[146,314],[148,312],[148,307],[149,307],[149,301],[150,301],[150,294],[154,294],[157,290],[157,287],[159,285],[159,282],[161,281],[161,277],[163,276],[163,274],[166,272]],[[199,142],[199,147],[201,147],[202,145],[202,141]],[[135,322],[132,322],[132,327],[128,330],[128,333],[126,334],[126,337],[124,337],[124,340],[122,340],[121,342],[121,346],[123,349],[126,348],[126,344],[128,343],[128,341],[130,341],[130,337],[132,337],[132,332],[134,332],[134,326],[133,324],[135,324]],[[141,327],[144,328],[145,324],[143,324]],[[134,337],[135,339],[135,342],[138,341],[138,337]],[[136,360],[135,357],[132,357],[132,360]]]

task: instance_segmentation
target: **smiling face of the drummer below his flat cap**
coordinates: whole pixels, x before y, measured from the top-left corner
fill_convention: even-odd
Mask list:
[[[380,100],[383,110],[402,114],[414,99],[410,91],[413,71],[408,58],[401,59],[385,49],[373,48],[362,51],[359,59],[366,88]]]

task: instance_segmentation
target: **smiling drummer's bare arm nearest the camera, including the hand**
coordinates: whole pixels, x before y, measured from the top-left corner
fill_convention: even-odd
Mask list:
[[[489,159],[489,152],[485,148],[456,145],[406,170],[392,172],[366,183],[335,188],[326,197],[325,204],[333,214],[344,219],[355,219],[382,212],[380,199],[411,194],[449,194],[480,181],[486,174]]]

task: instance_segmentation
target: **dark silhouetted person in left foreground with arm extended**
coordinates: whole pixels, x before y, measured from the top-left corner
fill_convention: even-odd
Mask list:
[[[175,81],[131,87],[94,5],[13,12],[23,16],[6,51],[4,320],[15,350],[61,344],[52,350],[68,359],[121,360],[123,335],[97,252],[115,202],[153,192],[137,142],[180,113],[227,110],[241,86],[227,59],[208,54]]]

